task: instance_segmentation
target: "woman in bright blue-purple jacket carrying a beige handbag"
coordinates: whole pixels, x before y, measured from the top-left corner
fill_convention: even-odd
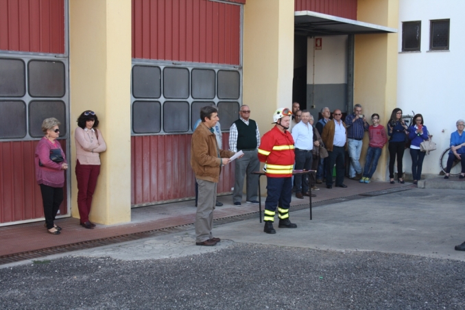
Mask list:
[[[421,178],[421,168],[423,165],[423,159],[425,158],[426,152],[420,151],[420,143],[429,139],[427,127],[423,125],[423,117],[421,114],[414,116],[414,123],[409,127],[409,139],[410,139],[410,156],[412,156],[412,176],[414,178],[414,184],[418,184],[418,180]]]

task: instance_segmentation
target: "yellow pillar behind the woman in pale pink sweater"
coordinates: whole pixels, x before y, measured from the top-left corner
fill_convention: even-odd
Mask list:
[[[129,222],[131,0],[69,0],[71,215],[79,217],[74,131],[84,110],[97,114],[107,150],[90,219]]]

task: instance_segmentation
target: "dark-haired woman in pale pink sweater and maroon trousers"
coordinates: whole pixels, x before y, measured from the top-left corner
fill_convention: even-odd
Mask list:
[[[92,196],[100,173],[100,153],[106,151],[104,136],[97,126],[97,115],[87,110],[78,118],[78,128],[74,133],[80,224],[87,229],[95,227],[95,224],[89,221],[88,215],[91,213]]]

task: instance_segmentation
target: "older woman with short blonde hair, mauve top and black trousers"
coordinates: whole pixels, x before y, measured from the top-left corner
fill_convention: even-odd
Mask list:
[[[60,235],[61,228],[56,226],[55,217],[63,201],[64,170],[68,169],[66,156],[56,139],[60,136],[60,121],[51,117],[44,119],[40,139],[34,159],[36,180],[42,193],[45,227],[52,235]]]

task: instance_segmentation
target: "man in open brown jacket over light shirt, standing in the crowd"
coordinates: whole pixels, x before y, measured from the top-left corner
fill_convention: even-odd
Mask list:
[[[326,188],[333,188],[333,167],[336,164],[336,187],[344,184],[344,151],[347,150],[346,124],[341,120],[341,110],[334,110],[333,119],[323,127],[321,138],[328,150],[329,165],[326,176]]]

